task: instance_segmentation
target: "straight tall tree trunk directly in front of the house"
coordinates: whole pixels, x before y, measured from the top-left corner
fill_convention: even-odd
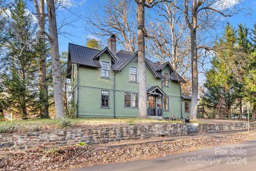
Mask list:
[[[145,61],[145,0],[138,1],[139,118],[147,118],[147,83]]]

